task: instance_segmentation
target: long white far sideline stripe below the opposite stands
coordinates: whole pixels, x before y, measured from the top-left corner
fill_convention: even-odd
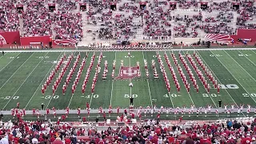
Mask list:
[[[171,47],[170,49],[142,49],[142,50],[5,50],[5,52],[9,52],[9,53],[15,53],[15,52],[62,52],[62,51],[65,51],[65,52],[76,52],[76,51],[95,51],[95,52],[101,52],[101,51],[166,51],[166,50],[173,50],[173,51],[194,51],[194,50],[197,50],[197,51],[200,51],[200,50],[203,50],[203,51],[208,51],[208,50],[256,50],[256,48],[242,48],[242,47],[238,47],[238,48],[196,48],[196,49],[174,49],[173,47]]]

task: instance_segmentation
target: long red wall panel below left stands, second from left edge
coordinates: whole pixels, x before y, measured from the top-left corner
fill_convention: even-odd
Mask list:
[[[49,46],[50,36],[42,36],[42,37],[22,37],[21,45],[29,46],[30,42],[42,42],[44,45]]]

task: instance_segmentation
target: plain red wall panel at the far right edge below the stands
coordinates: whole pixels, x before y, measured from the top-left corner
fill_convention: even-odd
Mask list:
[[[238,38],[246,38],[250,39],[252,42],[256,42],[256,30],[255,29],[238,29],[237,35],[230,35],[231,38],[234,39],[234,42],[238,40]]]

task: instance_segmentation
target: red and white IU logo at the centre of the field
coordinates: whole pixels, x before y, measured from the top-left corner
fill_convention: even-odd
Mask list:
[[[119,74],[116,79],[130,79],[138,76],[138,67],[125,67],[119,69]]]

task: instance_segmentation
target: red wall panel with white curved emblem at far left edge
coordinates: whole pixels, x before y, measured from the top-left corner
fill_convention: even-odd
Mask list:
[[[19,44],[21,42],[19,31],[2,32],[0,35],[5,39],[6,44],[13,44],[14,42]]]

